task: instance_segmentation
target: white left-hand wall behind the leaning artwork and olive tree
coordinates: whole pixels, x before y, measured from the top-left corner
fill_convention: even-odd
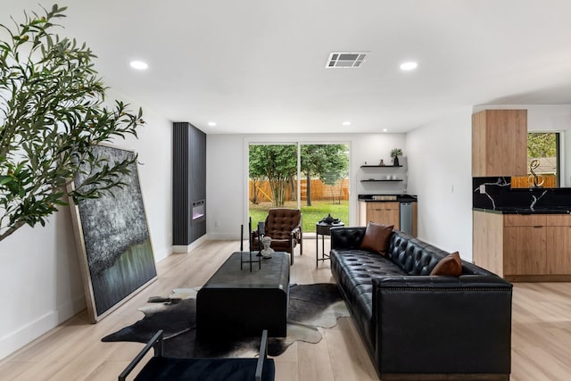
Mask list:
[[[139,153],[139,179],[159,261],[172,244],[171,123],[143,109],[147,124],[139,128],[139,139],[116,146]],[[75,247],[68,208],[54,214],[45,228],[21,228],[0,242],[0,359],[85,308]]]

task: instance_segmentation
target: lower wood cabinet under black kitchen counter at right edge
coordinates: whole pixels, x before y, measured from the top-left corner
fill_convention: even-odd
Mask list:
[[[571,215],[473,216],[476,265],[512,281],[571,280]]]

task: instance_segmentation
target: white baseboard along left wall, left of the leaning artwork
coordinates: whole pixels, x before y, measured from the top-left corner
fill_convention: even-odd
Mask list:
[[[8,335],[0,337],[0,360],[18,351],[26,344],[33,342],[39,336],[59,326],[65,320],[85,310],[85,308],[86,298],[85,296],[79,296],[59,306],[57,310],[49,311],[45,315],[19,327]]]

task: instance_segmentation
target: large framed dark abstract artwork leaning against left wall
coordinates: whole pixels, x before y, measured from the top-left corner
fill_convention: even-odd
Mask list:
[[[93,153],[111,163],[136,154],[111,145],[95,145]],[[87,313],[93,323],[157,278],[137,163],[128,169],[128,175],[121,175],[126,185],[113,189],[112,195],[77,204],[70,200]],[[81,184],[84,176],[79,173],[68,190]]]

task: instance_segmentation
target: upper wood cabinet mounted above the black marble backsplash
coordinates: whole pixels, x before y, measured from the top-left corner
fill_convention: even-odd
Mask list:
[[[472,115],[472,177],[527,174],[527,110]]]

